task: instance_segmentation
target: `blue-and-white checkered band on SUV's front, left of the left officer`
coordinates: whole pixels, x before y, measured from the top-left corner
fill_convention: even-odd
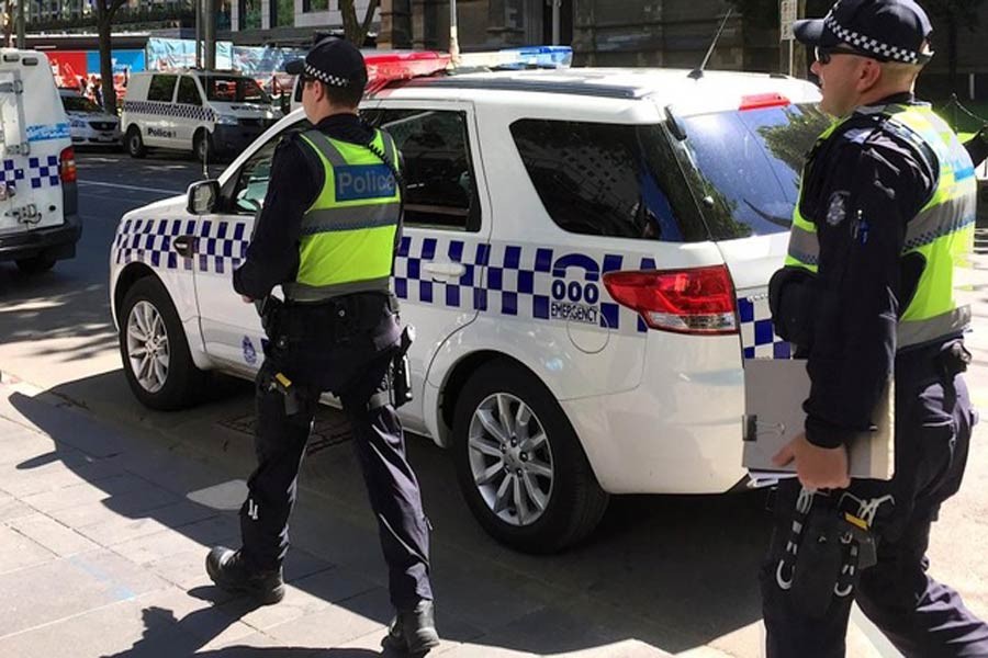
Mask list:
[[[199,223],[194,219],[127,219],[114,241],[117,264],[139,261],[166,270],[192,270],[228,274],[243,262],[247,252],[244,222]],[[178,236],[197,236],[195,258],[182,258],[171,241]]]

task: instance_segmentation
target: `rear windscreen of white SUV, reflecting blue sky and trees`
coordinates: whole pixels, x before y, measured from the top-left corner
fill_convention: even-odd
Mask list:
[[[806,155],[830,120],[815,104],[682,118],[696,163],[692,181],[714,207],[715,240],[789,229]]]

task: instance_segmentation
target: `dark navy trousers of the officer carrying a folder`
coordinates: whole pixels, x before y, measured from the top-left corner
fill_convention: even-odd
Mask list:
[[[844,656],[852,599],[909,658],[988,656],[988,625],[956,591],[927,574],[925,556],[930,526],[961,486],[976,418],[959,374],[941,372],[928,354],[897,359],[895,477],[855,479],[849,489],[862,499],[895,498],[873,526],[878,563],[860,572],[852,594],[833,597],[819,619],[802,614],[777,582],[800,489],[796,479],[779,485],[776,525],[760,574],[768,658]]]

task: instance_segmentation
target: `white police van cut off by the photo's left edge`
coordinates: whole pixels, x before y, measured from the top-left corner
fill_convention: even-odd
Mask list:
[[[26,273],[76,256],[82,235],[69,123],[44,53],[0,49],[0,261]]]

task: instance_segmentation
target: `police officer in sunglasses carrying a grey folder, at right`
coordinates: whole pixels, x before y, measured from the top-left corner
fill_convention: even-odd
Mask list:
[[[927,574],[930,526],[964,475],[977,420],[961,373],[957,268],[973,241],[976,180],[957,136],[913,99],[931,25],[913,0],[840,0],[798,21],[823,111],[785,266],[770,285],[776,331],[807,359],[805,432],[774,501],[761,571],[771,658],[843,656],[852,600],[906,656],[988,656],[988,626]],[[850,479],[894,383],[895,476]]]

